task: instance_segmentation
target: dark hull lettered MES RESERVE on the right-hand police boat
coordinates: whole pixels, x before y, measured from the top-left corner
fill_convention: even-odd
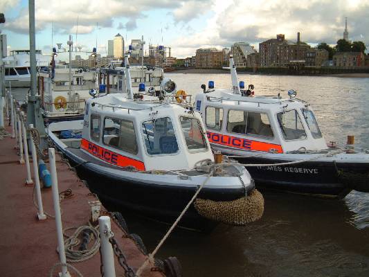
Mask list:
[[[260,157],[236,158],[244,164],[285,163],[288,160]],[[291,160],[292,161],[292,160]],[[293,160],[296,161],[296,160]],[[336,163],[334,161],[307,161],[288,166],[246,166],[257,188],[285,190],[291,193],[318,197],[343,198],[353,189],[340,179],[338,171],[369,172],[368,163]]]

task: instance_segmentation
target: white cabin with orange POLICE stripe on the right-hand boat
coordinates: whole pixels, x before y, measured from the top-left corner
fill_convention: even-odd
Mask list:
[[[276,153],[327,149],[314,111],[301,100],[215,89],[199,93],[195,107],[210,143],[221,148]]]

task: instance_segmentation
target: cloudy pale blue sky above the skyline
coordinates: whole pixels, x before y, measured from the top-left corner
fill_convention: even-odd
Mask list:
[[[29,48],[28,1],[0,0],[0,11],[8,50]],[[36,48],[49,54],[52,45],[66,47],[71,34],[82,52],[97,45],[106,55],[107,41],[117,33],[129,43],[143,35],[145,49],[150,43],[171,46],[174,57],[235,42],[258,49],[280,33],[296,41],[300,32],[312,46],[334,45],[343,37],[345,17],[349,38],[369,44],[369,0],[35,0]]]

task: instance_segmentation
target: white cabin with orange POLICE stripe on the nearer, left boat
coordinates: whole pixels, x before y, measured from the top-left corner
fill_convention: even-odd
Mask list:
[[[81,148],[137,170],[188,170],[213,160],[199,114],[157,98],[107,94],[86,102]]]

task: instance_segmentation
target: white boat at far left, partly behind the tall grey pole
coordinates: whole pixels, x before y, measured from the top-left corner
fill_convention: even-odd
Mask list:
[[[30,51],[13,50],[8,57],[3,58],[5,64],[6,87],[30,87]],[[41,50],[36,50],[36,66],[42,69],[48,66],[50,57],[42,55]]]

